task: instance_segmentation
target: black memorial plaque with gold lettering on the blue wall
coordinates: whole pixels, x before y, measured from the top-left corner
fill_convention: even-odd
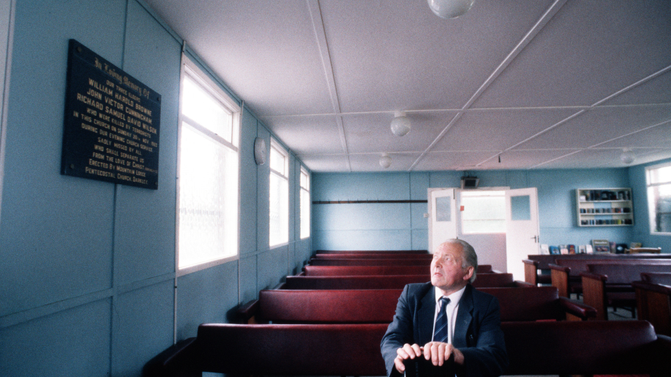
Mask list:
[[[161,95],[74,39],[61,174],[158,188]]]

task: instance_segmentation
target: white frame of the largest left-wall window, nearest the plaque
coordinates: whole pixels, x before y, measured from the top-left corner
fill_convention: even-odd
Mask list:
[[[217,135],[212,132],[209,128],[201,126],[191,119],[187,115],[182,113],[182,100],[181,95],[184,92],[184,80],[186,76],[193,80],[196,84],[199,84],[201,89],[208,92],[212,97],[220,102],[220,104],[230,111],[232,116],[232,126],[230,130],[230,141],[225,137]],[[212,266],[217,266],[219,264],[224,264],[231,262],[233,260],[239,260],[240,258],[240,181],[241,181],[241,154],[240,154],[240,134],[241,134],[241,114],[242,108],[235,102],[235,100],[226,93],[221,84],[212,80],[204,71],[193,62],[186,54],[181,56],[181,71],[179,79],[179,113],[178,113],[178,124],[177,124],[177,179],[176,179],[176,196],[175,196],[175,274],[177,277],[188,275],[196,271],[201,271],[203,269],[209,269]],[[197,264],[192,264],[190,266],[179,267],[179,211],[180,211],[180,181],[179,177],[181,176],[181,133],[184,123],[187,124],[192,130],[195,130],[197,133],[216,141],[217,143],[233,150],[237,155],[237,166],[236,166],[236,202],[235,207],[237,209],[236,223],[234,233],[236,234],[235,240],[235,251],[233,255],[221,255],[221,258],[216,258],[213,260],[207,260],[199,262]]]

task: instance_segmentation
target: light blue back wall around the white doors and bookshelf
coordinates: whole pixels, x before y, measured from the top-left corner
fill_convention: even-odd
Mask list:
[[[636,168],[630,170],[637,172]],[[645,207],[639,201],[634,204],[637,214],[635,227],[588,228],[576,225],[575,189],[632,187],[630,172],[626,168],[470,173],[478,176],[480,187],[537,187],[541,243],[588,244],[593,239],[618,243],[661,242],[661,238],[652,242],[638,231],[643,225],[639,214]],[[428,188],[459,187],[463,175],[463,172],[318,173],[313,175],[313,196],[315,201],[426,201]],[[644,185],[634,185],[632,190],[635,198],[645,195]],[[425,212],[428,212],[426,203],[317,204],[313,207],[313,246],[314,249],[327,250],[427,249]]]

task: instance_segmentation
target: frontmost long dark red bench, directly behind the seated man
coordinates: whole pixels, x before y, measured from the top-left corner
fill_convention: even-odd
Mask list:
[[[149,361],[143,375],[385,376],[380,339],[386,328],[203,324],[195,338]],[[671,338],[655,334],[647,321],[505,322],[501,329],[509,360],[504,375],[668,377]]]

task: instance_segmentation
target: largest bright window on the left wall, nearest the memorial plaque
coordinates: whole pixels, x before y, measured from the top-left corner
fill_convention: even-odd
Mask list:
[[[239,106],[186,56],[177,175],[179,274],[238,255]]]

